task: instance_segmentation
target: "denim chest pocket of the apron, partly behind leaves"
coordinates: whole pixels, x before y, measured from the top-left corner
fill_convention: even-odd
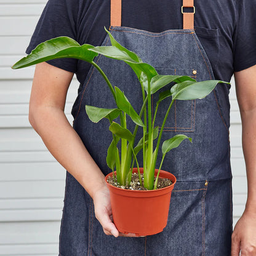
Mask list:
[[[190,70],[176,69],[176,68],[156,68],[159,74],[171,74],[180,76],[190,76],[196,79],[196,71],[191,68]],[[193,72],[195,74],[193,74]],[[170,89],[174,83],[170,83],[153,94],[152,104],[156,104],[159,98],[159,94],[165,90]],[[167,109],[169,108],[171,97],[166,98],[159,104],[158,113],[156,116],[156,122],[154,126],[159,126],[159,130],[164,121],[164,116]],[[154,106],[155,107],[155,106]],[[194,132],[195,125],[195,114],[196,114],[196,100],[175,100],[172,109],[170,110],[169,116],[164,126],[166,132]]]

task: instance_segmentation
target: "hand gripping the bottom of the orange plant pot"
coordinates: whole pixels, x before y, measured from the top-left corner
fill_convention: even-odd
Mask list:
[[[94,212],[95,217],[102,225],[105,234],[113,235],[115,238],[118,236],[138,238],[135,234],[119,233],[118,229],[114,225],[108,188],[104,187],[94,193]]]

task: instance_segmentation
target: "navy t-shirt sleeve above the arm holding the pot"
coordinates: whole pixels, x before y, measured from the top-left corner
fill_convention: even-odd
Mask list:
[[[26,54],[30,54],[31,50],[41,42],[58,36],[69,36],[76,40],[76,6],[76,1],[73,0],[49,0],[26,49]],[[74,58],[49,60],[47,63],[73,73],[77,69],[77,60]]]

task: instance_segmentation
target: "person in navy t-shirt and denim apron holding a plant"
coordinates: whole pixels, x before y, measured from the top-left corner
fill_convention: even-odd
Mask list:
[[[105,123],[89,122],[84,110],[86,104],[112,107],[113,102],[88,63],[51,60],[36,65],[29,119],[67,170],[59,255],[256,255],[256,1],[197,0],[194,8],[193,0],[120,3],[49,0],[26,53],[57,36],[108,46],[106,26],[160,74],[230,81],[234,73],[248,180],[246,209],[231,237],[230,87],[219,84],[203,100],[175,103],[167,121],[166,138],[177,132],[193,137],[193,145],[174,150],[162,167],[177,176],[167,227],[145,238],[119,234],[104,180],[110,172],[105,156],[111,135]],[[134,86],[129,68],[100,56],[96,61],[135,105],[140,87]],[[112,72],[116,69],[118,76]],[[80,87],[71,127],[63,110],[74,73]]]

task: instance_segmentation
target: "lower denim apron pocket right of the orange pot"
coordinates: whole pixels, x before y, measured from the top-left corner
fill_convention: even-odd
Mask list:
[[[148,237],[148,246],[168,240],[154,255],[204,255],[206,191],[205,182],[176,183],[166,228]]]

